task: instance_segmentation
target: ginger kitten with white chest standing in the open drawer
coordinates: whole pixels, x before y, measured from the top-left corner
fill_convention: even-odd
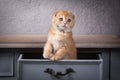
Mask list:
[[[52,19],[52,27],[48,32],[48,40],[44,46],[43,57],[50,60],[76,59],[77,51],[72,38],[74,15],[69,11],[56,11]]]

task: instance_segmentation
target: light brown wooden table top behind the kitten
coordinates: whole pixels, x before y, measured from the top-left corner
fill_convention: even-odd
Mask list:
[[[77,48],[120,48],[117,35],[73,35]],[[0,34],[0,48],[42,48],[47,35]]]

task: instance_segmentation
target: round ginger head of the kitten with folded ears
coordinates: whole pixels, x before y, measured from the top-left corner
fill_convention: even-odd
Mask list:
[[[71,32],[75,16],[70,11],[59,10],[53,14],[52,25],[58,31]]]

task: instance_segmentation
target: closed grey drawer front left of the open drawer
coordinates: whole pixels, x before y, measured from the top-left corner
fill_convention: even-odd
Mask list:
[[[12,53],[0,53],[0,76],[13,76]]]

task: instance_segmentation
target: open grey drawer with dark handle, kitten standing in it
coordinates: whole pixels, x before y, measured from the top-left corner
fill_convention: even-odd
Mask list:
[[[100,55],[82,55],[78,60],[50,61],[39,55],[20,55],[19,80],[102,80]]]

